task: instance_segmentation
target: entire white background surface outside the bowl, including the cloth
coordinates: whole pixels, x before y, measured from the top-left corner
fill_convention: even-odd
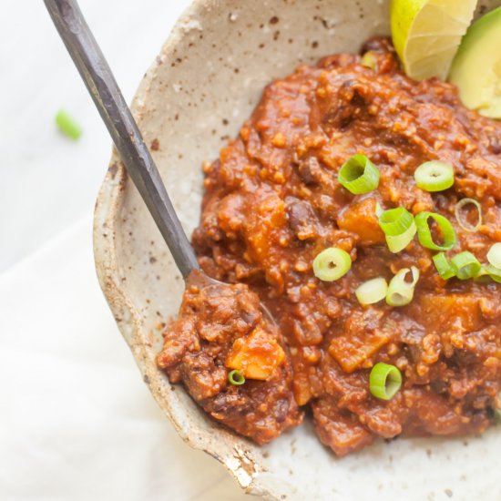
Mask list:
[[[189,0],[80,5],[129,102]],[[240,500],[160,413],[99,290],[107,131],[42,0],[0,7],[0,498]]]

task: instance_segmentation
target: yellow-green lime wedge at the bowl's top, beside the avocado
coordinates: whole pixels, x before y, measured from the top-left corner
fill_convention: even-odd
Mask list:
[[[449,73],[477,0],[392,0],[394,47],[415,80]]]

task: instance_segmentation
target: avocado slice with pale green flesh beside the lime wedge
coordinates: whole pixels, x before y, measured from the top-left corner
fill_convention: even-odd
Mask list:
[[[501,118],[501,7],[468,28],[455,55],[449,80],[466,107]]]

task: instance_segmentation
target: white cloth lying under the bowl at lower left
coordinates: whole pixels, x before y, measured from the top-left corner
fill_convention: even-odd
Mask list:
[[[243,498],[148,393],[99,290],[90,236],[88,216],[0,276],[0,498]]]

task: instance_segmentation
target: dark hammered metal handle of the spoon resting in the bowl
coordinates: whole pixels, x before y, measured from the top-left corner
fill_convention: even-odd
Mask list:
[[[157,223],[179,271],[186,278],[190,271],[199,268],[197,257],[105,56],[75,0],[44,1],[130,178]]]

